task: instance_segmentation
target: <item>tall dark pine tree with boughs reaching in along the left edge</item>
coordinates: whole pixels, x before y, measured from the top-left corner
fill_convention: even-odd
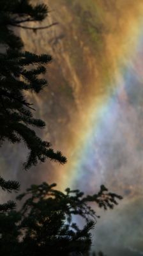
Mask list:
[[[47,158],[66,163],[66,157],[61,152],[54,152],[49,141],[42,141],[36,136],[31,127],[43,128],[45,122],[33,117],[34,108],[24,96],[24,92],[39,93],[47,86],[47,81],[40,75],[45,74],[45,65],[50,63],[52,57],[23,52],[23,42],[13,31],[25,22],[42,21],[47,15],[45,4],[33,6],[29,0],[0,1],[0,145],[5,140],[11,143],[23,140],[29,149],[25,169]],[[2,189],[19,190],[18,182],[0,179]],[[13,207],[15,203],[11,201],[0,205],[0,211]]]

